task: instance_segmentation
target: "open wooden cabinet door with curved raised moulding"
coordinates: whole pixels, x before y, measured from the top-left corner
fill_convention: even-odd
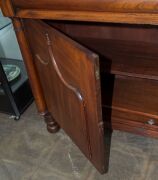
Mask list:
[[[98,55],[38,20],[24,20],[49,112],[86,157],[105,172]]]

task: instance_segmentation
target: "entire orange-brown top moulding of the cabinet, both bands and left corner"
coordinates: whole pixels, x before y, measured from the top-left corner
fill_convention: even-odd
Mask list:
[[[9,17],[158,25],[158,0],[1,0]]]

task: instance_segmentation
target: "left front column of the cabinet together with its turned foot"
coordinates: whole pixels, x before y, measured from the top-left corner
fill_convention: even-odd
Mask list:
[[[25,37],[24,27],[19,18],[13,18],[13,25],[17,35],[17,39],[20,45],[21,53],[24,59],[24,63],[28,72],[32,92],[35,98],[36,106],[40,115],[44,116],[44,120],[47,124],[47,130],[50,133],[57,132],[60,128],[55,122],[54,118],[48,112],[45,98],[43,95],[42,87],[39,81],[39,77],[34,65],[33,57],[30,52],[27,38]]]

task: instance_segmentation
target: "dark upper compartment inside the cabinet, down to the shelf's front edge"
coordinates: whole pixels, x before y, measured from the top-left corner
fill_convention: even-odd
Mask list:
[[[107,73],[158,80],[156,27],[48,22],[102,56]]]

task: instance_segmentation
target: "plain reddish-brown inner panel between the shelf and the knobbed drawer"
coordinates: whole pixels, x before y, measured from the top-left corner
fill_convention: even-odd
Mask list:
[[[113,81],[113,77],[104,76],[102,82],[103,104],[106,103],[104,95],[106,96],[111,91],[106,87],[106,84],[110,83],[114,83],[112,107],[148,114],[149,119],[158,118],[157,81],[127,76],[115,76]],[[138,119],[136,120],[138,121]]]

